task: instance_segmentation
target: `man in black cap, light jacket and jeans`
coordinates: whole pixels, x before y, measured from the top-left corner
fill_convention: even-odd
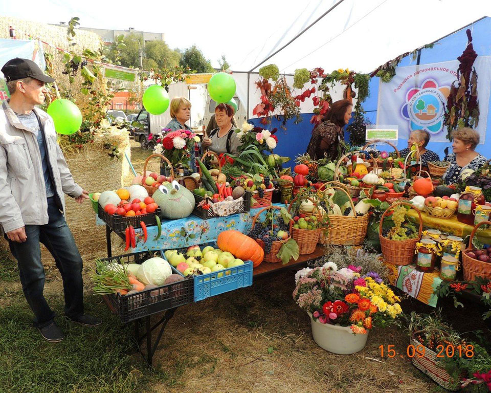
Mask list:
[[[31,60],[15,58],[2,68],[10,100],[0,113],[0,224],[17,259],[34,326],[50,341],[64,336],[43,296],[39,242],[53,255],[63,279],[65,316],[85,326],[101,323],[84,313],[82,258],[64,219],[64,195],[82,203],[88,192],[77,185],[56,143],[53,119],[36,108],[48,93],[44,75]]]

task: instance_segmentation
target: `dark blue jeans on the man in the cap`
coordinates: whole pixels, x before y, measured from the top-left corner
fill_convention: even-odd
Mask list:
[[[54,197],[48,198],[48,216],[46,225],[26,225],[26,242],[9,240],[10,251],[17,259],[22,289],[34,312],[34,325],[38,327],[50,324],[55,317],[42,294],[44,268],[39,242],[51,252],[61,273],[65,315],[76,318],[83,314],[82,257]]]

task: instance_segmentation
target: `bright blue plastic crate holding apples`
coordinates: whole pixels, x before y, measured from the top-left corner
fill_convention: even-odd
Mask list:
[[[166,259],[164,251],[161,253],[162,258]],[[222,275],[218,277],[220,273]],[[179,274],[181,273],[179,272]],[[250,287],[252,285],[252,261],[244,261],[243,265],[234,268],[193,276],[193,279],[194,301],[204,300],[239,288]]]

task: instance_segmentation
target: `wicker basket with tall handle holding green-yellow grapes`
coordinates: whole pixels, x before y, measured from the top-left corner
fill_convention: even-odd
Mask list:
[[[397,205],[407,205],[412,207],[418,213],[419,217],[419,236],[416,239],[407,240],[390,240],[387,237],[382,236],[382,225],[384,223],[384,217],[388,215],[389,211]],[[384,254],[384,259],[392,265],[406,266],[413,263],[414,250],[416,249],[416,243],[421,239],[421,231],[423,230],[423,222],[421,219],[421,212],[416,209],[412,204],[407,202],[396,202],[389,206],[382,218],[380,220],[380,225],[378,226],[378,238],[380,239],[380,246],[382,248],[382,254]]]

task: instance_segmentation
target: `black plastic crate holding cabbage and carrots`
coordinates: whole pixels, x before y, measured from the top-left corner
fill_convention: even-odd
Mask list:
[[[107,263],[141,264],[152,256],[152,253],[144,251],[118,255],[101,260],[107,261]],[[180,274],[172,266],[171,268],[172,273]],[[154,293],[154,296],[152,296],[152,292]],[[157,292],[157,294],[155,294],[155,292]],[[126,323],[192,303],[194,299],[194,280],[191,278],[184,278],[182,281],[173,282],[159,288],[141,291],[132,295],[121,296],[119,294],[110,294],[104,296],[109,301],[116,314],[119,315],[121,321]]]

